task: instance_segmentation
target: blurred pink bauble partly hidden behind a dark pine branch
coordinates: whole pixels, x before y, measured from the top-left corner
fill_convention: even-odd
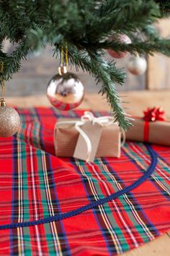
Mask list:
[[[126,43],[126,44],[130,44],[132,43],[132,41],[130,40],[130,38],[128,37],[128,35],[125,34],[119,34],[117,35],[118,41],[120,41],[120,43]],[[112,40],[114,40],[114,36],[112,37]],[[128,52],[127,51],[113,51],[112,49],[108,49],[107,53],[112,56],[113,58],[116,59],[121,59],[121,58],[125,58],[125,56],[127,56]]]

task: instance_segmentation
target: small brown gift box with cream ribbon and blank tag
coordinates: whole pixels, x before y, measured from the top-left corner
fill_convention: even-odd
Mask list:
[[[54,131],[55,155],[93,162],[95,157],[120,157],[120,127],[111,116],[58,119]]]

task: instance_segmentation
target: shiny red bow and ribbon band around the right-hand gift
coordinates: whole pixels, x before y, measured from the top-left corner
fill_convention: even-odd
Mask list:
[[[151,121],[165,121],[165,112],[163,108],[153,107],[147,108],[146,111],[143,111],[143,120],[144,123],[144,142],[148,142],[149,140],[149,123]]]

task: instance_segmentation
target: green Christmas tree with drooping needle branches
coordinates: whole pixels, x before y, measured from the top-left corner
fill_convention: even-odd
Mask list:
[[[153,25],[169,15],[169,0],[0,1],[1,80],[9,80],[30,51],[50,44],[56,57],[67,45],[70,64],[102,82],[99,92],[106,95],[115,121],[127,129],[130,119],[116,90],[124,84],[125,73],[115,61],[104,60],[104,50],[139,55],[156,51],[170,56],[170,40],[161,38]],[[128,35],[132,43],[120,42],[120,34]],[[17,43],[10,55],[3,52],[4,39]]]

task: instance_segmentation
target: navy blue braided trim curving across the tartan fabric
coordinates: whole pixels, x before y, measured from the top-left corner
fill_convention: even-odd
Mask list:
[[[14,228],[19,228],[19,227],[24,227],[24,226],[35,226],[35,225],[39,225],[39,224],[50,223],[52,221],[60,221],[63,218],[69,218],[72,216],[76,216],[80,213],[83,213],[86,210],[91,210],[93,208],[96,208],[99,205],[103,205],[106,202],[114,200],[116,197],[120,197],[120,195],[130,192],[132,189],[135,189],[140,184],[145,182],[146,179],[148,179],[148,177],[151,176],[154,169],[156,168],[156,164],[157,164],[156,152],[151,148],[151,145],[146,144],[146,148],[148,149],[148,152],[151,155],[151,165],[148,167],[147,171],[143,174],[143,176],[141,176],[137,181],[135,181],[130,186],[125,187],[124,189],[121,189],[121,190],[115,192],[114,194],[104,197],[102,199],[99,199],[95,202],[91,202],[88,205],[84,205],[81,208],[78,208],[76,210],[71,210],[67,213],[59,213],[59,214],[56,214],[55,216],[43,218],[38,221],[25,221],[25,222],[21,222],[21,223],[11,223],[11,224],[6,224],[6,225],[1,225],[0,230],[1,229],[14,229]]]

